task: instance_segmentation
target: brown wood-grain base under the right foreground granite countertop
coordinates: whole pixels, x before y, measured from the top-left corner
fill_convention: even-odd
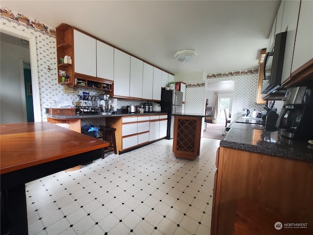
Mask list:
[[[243,198],[290,218],[281,223],[308,223],[300,230],[313,234],[313,163],[227,147],[217,161],[211,235],[232,233]]]

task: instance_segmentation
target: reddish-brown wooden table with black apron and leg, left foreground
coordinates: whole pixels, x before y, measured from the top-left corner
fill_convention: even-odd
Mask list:
[[[1,235],[28,234],[25,183],[99,159],[109,146],[48,122],[1,124],[0,144]]]

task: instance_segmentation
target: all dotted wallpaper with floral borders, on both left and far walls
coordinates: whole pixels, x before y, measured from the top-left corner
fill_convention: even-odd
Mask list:
[[[56,37],[55,28],[41,23],[36,19],[32,19],[23,15],[20,12],[8,9],[1,5],[0,8],[0,23],[9,27],[33,34],[36,36],[37,44],[37,61],[38,61],[38,76],[40,89],[41,117],[46,120],[45,108],[51,107],[52,103],[58,96],[64,95],[70,98],[74,103],[79,101],[78,95],[63,94],[63,86],[58,84],[57,72],[57,52],[56,52]],[[241,71],[227,73],[230,77],[223,77],[224,73],[208,75],[207,82],[235,80],[235,95],[234,107],[232,109],[232,118],[239,118],[243,108],[248,108],[251,111],[263,110],[263,105],[255,104],[255,95],[257,89],[258,74],[255,70],[247,70],[245,74]],[[102,91],[92,89],[78,89],[78,93],[89,92],[90,95],[98,95]],[[185,94],[185,112],[186,113],[204,113],[205,106],[205,84],[190,83],[187,84]],[[126,105],[140,105],[140,100],[118,99],[117,108]],[[96,119],[96,118],[93,118]],[[90,124],[105,124],[104,120],[93,120],[89,118],[84,120]],[[234,120],[234,119],[233,119]]]

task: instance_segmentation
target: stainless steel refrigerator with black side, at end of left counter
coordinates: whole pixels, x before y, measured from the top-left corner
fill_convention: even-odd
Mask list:
[[[161,92],[161,112],[167,113],[167,135],[165,139],[174,137],[174,116],[172,114],[181,113],[182,92],[176,90],[164,90]]]

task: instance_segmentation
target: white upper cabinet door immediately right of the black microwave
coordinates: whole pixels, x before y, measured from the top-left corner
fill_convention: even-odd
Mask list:
[[[282,32],[287,31],[287,38],[281,83],[286,81],[291,75],[291,63],[295,40],[295,32],[298,22],[299,7],[300,1],[285,1],[282,21]]]

